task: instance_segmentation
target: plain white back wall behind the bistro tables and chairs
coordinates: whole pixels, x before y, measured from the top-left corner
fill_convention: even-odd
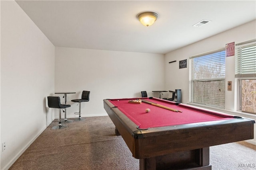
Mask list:
[[[78,111],[77,103],[71,100],[81,98],[83,90],[90,91],[90,101],[81,104],[82,117],[88,117],[107,115],[104,99],[141,97],[140,92],[144,90],[148,96],[157,97],[151,91],[164,89],[164,55],[55,49],[55,92],[76,92],[67,94],[67,104],[71,104],[67,117],[78,117],[74,115]]]

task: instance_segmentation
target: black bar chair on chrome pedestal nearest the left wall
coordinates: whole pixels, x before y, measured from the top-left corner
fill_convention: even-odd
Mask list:
[[[66,125],[61,124],[61,109],[65,109],[66,107],[70,107],[69,104],[60,104],[60,97],[58,96],[48,96],[48,107],[59,109],[59,124],[58,126],[52,127],[52,129],[63,129],[67,127]]]

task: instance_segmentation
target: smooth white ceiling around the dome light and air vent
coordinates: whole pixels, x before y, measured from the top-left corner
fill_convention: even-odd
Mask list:
[[[110,51],[166,54],[256,19],[256,0],[16,2],[56,47]],[[137,19],[145,11],[158,14],[149,27]]]

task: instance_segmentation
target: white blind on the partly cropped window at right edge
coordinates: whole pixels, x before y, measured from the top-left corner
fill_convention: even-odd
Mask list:
[[[256,77],[256,40],[236,44],[236,78]]]

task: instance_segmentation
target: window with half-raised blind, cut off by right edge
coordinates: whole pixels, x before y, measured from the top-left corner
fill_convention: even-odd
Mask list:
[[[238,110],[256,114],[256,39],[236,44]]]

